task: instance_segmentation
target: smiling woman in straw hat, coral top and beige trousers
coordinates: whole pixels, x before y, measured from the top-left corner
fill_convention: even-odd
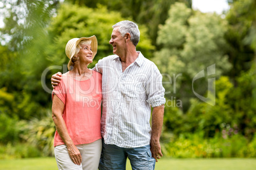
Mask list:
[[[96,36],[66,44],[69,71],[52,93],[59,169],[97,169],[101,156],[101,74],[88,69],[97,53]]]

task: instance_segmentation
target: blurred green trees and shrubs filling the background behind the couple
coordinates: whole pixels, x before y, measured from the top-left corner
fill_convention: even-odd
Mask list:
[[[256,157],[256,3],[230,0],[222,15],[190,0],[3,0],[0,29],[0,159],[53,156],[50,77],[66,72],[64,48],[96,35],[94,59],[112,54],[111,26],[139,25],[138,50],[155,62],[166,88],[160,141],[166,157]],[[212,77],[192,79],[215,64]],[[57,67],[59,66],[59,67]],[[46,71],[45,71],[46,70]],[[44,78],[41,80],[41,78]],[[216,92],[208,91],[208,79]]]

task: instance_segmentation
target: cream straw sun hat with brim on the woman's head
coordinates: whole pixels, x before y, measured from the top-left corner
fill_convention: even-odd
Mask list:
[[[76,46],[79,44],[80,41],[82,40],[90,40],[92,42],[90,42],[90,46],[92,47],[92,59],[94,59],[94,56],[97,53],[97,38],[96,36],[91,36],[91,37],[82,37],[82,38],[73,38],[71,40],[68,41],[67,45],[66,45],[66,55],[68,56],[68,58],[70,59],[68,62],[68,69],[70,70],[70,65],[71,65],[71,58],[75,55],[76,53]]]

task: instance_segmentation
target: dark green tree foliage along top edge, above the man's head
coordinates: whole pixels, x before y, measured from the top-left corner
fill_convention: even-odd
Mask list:
[[[192,7],[191,0],[66,0],[72,4],[97,8],[97,4],[103,4],[110,11],[118,11],[123,17],[131,17],[132,20],[140,25],[146,25],[148,36],[156,45],[157,31],[159,24],[163,24],[167,19],[167,13],[171,4],[183,2],[189,8]]]

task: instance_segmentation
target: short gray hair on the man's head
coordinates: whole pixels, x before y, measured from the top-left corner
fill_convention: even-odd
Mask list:
[[[119,27],[119,32],[122,35],[122,37],[124,37],[126,33],[131,34],[132,44],[134,44],[134,46],[137,46],[139,42],[140,32],[139,32],[138,25],[136,23],[125,20],[122,22],[118,22],[112,26],[113,29],[115,27]]]

